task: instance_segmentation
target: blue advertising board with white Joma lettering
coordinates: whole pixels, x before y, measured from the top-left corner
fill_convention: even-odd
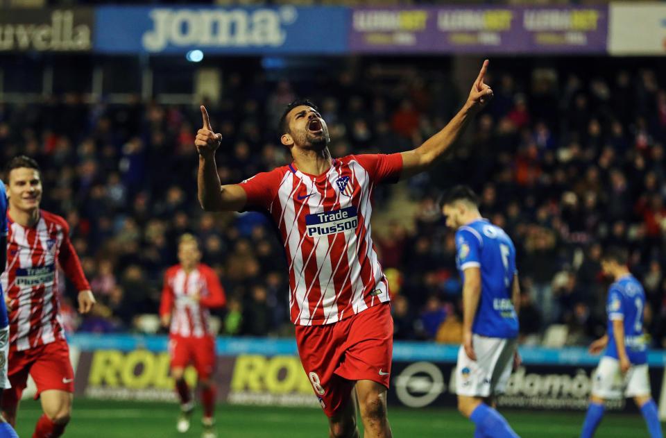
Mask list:
[[[345,53],[346,8],[96,8],[101,53]]]

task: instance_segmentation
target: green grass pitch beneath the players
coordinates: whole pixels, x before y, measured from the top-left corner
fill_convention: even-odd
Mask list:
[[[19,409],[19,437],[31,437],[41,410],[38,402],[24,401]],[[200,437],[200,408],[186,434],[176,432],[178,406],[169,403],[93,401],[76,399],[67,438],[185,438]],[[579,436],[583,413],[505,411],[522,438],[574,438]],[[396,438],[472,437],[472,424],[454,410],[389,409]],[[326,419],[318,409],[219,405],[219,438],[327,437]],[[597,437],[648,437],[640,414],[606,414]]]

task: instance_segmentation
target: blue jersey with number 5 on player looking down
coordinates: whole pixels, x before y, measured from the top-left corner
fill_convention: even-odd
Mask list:
[[[481,336],[518,336],[511,290],[515,275],[515,247],[502,228],[479,219],[456,232],[456,264],[461,278],[465,269],[481,269],[481,298],[472,332]]]

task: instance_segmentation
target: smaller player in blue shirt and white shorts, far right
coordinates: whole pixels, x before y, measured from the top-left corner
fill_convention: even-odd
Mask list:
[[[647,346],[643,335],[645,292],[627,267],[622,249],[608,249],[601,256],[601,270],[613,277],[608,289],[608,332],[590,345],[590,353],[606,353],[592,381],[590,406],[583,423],[581,438],[591,438],[604,416],[608,398],[633,397],[643,414],[650,437],[661,438],[657,405],[652,400],[647,372]]]

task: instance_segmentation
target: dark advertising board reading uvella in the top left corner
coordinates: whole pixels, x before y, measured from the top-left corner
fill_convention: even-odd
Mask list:
[[[90,51],[93,23],[92,8],[2,8],[0,53]]]

